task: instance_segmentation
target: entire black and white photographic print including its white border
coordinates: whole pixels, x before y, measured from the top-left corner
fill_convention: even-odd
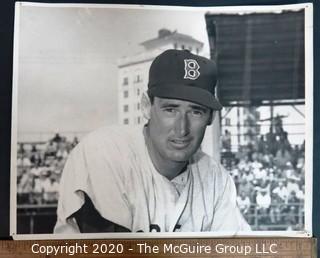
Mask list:
[[[12,236],[312,236],[312,12],[17,2]]]

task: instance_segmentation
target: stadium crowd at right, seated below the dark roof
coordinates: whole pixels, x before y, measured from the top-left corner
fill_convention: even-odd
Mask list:
[[[230,152],[230,137],[223,139],[222,163],[234,178],[238,206],[247,221],[256,227],[274,225],[274,230],[283,230],[279,225],[303,229],[304,143],[292,146],[282,123],[235,154]]]

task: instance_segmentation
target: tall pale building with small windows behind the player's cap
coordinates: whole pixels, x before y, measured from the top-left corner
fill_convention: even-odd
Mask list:
[[[141,43],[144,51],[123,57],[118,62],[119,124],[143,123],[141,96],[148,86],[148,72],[153,59],[167,49],[188,49],[199,54],[203,43],[189,35],[161,29],[158,36]]]

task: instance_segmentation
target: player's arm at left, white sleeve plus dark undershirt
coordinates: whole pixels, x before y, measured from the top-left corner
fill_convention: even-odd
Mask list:
[[[70,153],[62,172],[55,233],[128,231],[131,210],[125,199],[125,175],[109,130],[88,135]],[[115,162],[116,161],[116,162]]]

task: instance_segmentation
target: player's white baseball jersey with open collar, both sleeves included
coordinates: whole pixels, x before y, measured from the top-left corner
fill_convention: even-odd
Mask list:
[[[168,180],[154,168],[141,127],[105,127],[72,151],[64,168],[55,233],[79,232],[70,216],[84,192],[100,215],[132,232],[250,230],[230,175],[198,151]]]

